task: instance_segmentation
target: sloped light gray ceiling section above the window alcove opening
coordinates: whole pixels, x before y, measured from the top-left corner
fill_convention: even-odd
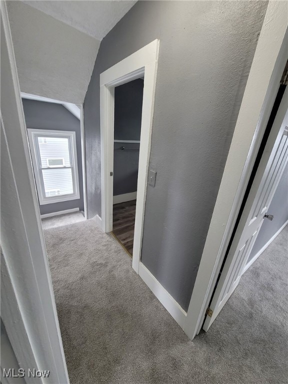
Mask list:
[[[7,8],[21,91],[81,104],[100,41],[21,1]]]

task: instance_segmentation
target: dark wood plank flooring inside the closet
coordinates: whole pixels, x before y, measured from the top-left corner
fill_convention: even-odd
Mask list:
[[[133,252],[136,200],[113,205],[113,234],[130,255]]]

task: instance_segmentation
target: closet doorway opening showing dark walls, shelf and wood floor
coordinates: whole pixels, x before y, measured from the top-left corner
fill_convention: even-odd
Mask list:
[[[144,79],[114,89],[113,230],[133,253]]]

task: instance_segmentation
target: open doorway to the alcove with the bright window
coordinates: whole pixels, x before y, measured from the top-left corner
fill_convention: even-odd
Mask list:
[[[85,218],[81,106],[21,93],[43,229]]]

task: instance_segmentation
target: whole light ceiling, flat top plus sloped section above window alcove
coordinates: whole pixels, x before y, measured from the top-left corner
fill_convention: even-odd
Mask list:
[[[81,104],[101,38],[135,1],[25,2],[7,1],[21,91]]]

